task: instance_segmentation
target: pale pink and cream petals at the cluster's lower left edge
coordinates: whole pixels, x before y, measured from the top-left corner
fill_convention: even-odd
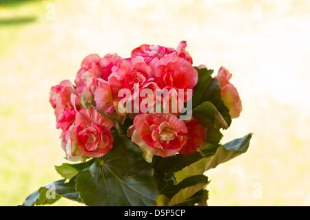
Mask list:
[[[63,151],[65,151],[65,157],[70,161],[85,161],[85,156],[77,149],[78,144],[76,142],[74,131],[75,126],[71,125],[67,131],[61,133],[61,147],[63,148]]]

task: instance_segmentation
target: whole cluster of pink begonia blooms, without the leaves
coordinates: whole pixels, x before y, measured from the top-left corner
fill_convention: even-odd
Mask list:
[[[114,133],[124,135],[145,155],[169,157],[194,153],[207,144],[208,129],[192,113],[198,69],[185,50],[141,45],[130,58],[107,54],[86,56],[74,84],[63,80],[50,91],[50,104],[61,129],[61,146],[71,161],[101,157],[113,146]],[[221,67],[215,77],[231,118],[242,110],[231,74]],[[158,95],[159,94],[159,95]],[[186,107],[185,107],[186,105]]]

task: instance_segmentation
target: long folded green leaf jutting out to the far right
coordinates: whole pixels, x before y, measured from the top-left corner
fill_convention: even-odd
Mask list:
[[[224,144],[223,146],[219,146],[214,155],[209,157],[203,157],[199,159],[197,162],[186,166],[182,170],[179,170],[174,173],[174,179],[176,184],[182,182],[184,179],[188,177],[192,177],[194,175],[201,175],[205,173],[207,170],[211,168],[215,168],[218,164],[223,164],[242,153],[247,151],[249,148],[249,142],[251,140],[252,134],[249,133],[245,135],[245,137],[238,138]],[[207,149],[204,149],[205,151]]]

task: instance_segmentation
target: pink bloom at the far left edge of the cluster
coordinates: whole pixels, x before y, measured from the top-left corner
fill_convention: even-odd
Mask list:
[[[63,109],[68,107],[68,102],[70,103],[72,93],[74,93],[74,86],[70,80],[63,80],[59,85],[53,86],[50,89],[50,104],[52,104],[54,109],[56,122],[58,122],[61,117]]]

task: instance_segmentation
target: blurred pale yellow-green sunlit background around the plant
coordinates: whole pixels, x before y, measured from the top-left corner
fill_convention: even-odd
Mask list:
[[[87,54],[183,40],[194,65],[233,74],[243,111],[223,143],[254,133],[247,153],[207,172],[209,206],[309,206],[309,11],[307,0],[0,0],[0,206],[61,179],[52,85],[73,82]]]

